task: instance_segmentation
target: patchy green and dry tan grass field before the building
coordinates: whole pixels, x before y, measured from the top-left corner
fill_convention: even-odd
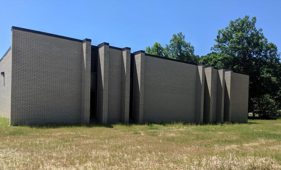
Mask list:
[[[217,125],[9,126],[0,169],[281,169],[281,119]]]

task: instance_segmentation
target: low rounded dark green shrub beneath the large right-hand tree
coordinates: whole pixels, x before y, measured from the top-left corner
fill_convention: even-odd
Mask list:
[[[253,113],[258,114],[258,116],[275,116],[277,111],[277,103],[270,97],[270,95],[263,95],[253,99]]]

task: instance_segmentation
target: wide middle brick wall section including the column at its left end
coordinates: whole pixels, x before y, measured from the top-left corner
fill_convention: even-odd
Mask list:
[[[137,122],[196,122],[198,66],[135,54]],[[135,111],[138,111],[135,112]]]

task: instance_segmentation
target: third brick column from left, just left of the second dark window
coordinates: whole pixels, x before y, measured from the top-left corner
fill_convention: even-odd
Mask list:
[[[122,80],[121,80],[121,113],[120,120],[123,123],[129,123],[129,107],[130,107],[130,62],[131,48],[125,47],[122,49],[123,64]]]

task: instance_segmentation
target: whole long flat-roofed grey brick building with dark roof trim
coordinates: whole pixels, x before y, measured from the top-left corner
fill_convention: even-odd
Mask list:
[[[247,122],[249,76],[12,27],[0,60],[10,124]]]

